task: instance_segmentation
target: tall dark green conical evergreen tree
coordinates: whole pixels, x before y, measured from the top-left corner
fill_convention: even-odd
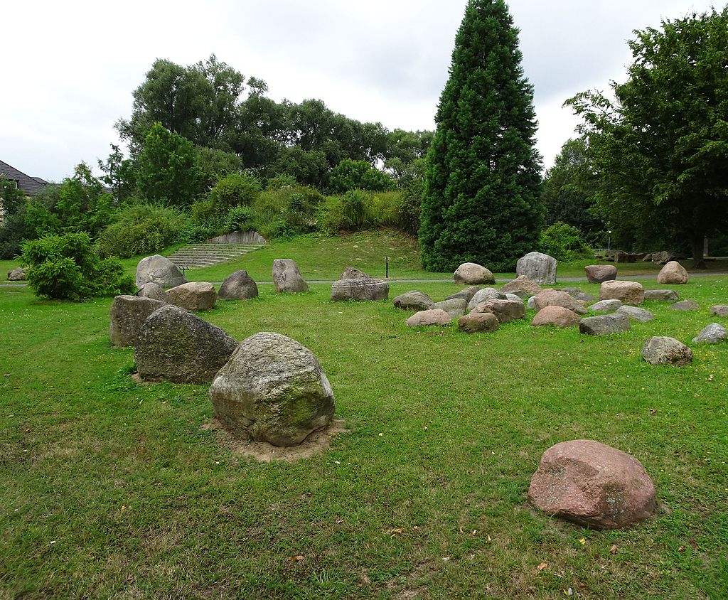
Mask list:
[[[541,161],[533,88],[503,0],[470,0],[427,154],[422,263],[511,269],[537,245]]]

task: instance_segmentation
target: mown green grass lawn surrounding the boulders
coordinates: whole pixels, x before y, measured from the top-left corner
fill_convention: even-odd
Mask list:
[[[415,287],[456,290],[392,283],[390,297]],[[686,368],[639,352],[720,320],[728,276],[678,291],[700,310],[649,302],[652,322],[605,338],[531,327],[533,312],[491,334],[411,329],[390,301],[334,304],[328,285],[221,301],[200,316],[236,339],[309,347],[349,429],[323,454],[261,464],[203,427],[206,385],[130,379],[110,299],[0,289],[0,599],[726,598],[728,344],[694,345]],[[657,515],[595,532],[532,509],[542,452],[577,438],[637,457]]]

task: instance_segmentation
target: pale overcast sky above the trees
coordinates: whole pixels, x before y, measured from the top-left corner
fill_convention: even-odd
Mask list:
[[[156,58],[215,53],[275,100],[321,98],[390,130],[432,129],[466,0],[33,1],[4,5],[0,160],[60,181],[117,143]],[[563,101],[623,81],[632,30],[710,0],[510,0],[548,167],[577,119]]]

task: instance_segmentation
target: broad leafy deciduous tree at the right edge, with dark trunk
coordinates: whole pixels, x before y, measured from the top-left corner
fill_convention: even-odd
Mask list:
[[[614,100],[568,101],[585,123],[596,202],[625,244],[703,238],[728,223],[728,7],[635,31]]]

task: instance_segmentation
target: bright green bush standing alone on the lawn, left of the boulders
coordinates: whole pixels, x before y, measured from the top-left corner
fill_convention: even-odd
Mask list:
[[[78,301],[135,289],[122,264],[116,258],[102,260],[85,232],[23,242],[20,261],[30,267],[28,285],[36,296]]]

